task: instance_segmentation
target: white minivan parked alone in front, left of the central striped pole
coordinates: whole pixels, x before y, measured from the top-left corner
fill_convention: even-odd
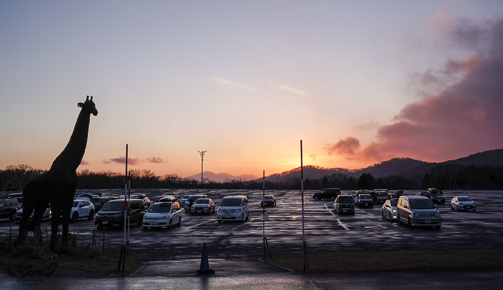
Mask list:
[[[246,216],[246,218],[245,218]],[[217,222],[240,221],[249,218],[248,198],[246,196],[224,197],[218,206]]]

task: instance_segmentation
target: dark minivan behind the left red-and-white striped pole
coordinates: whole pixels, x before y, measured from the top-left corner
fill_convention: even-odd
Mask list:
[[[141,226],[145,215],[143,200],[129,200],[129,223]],[[96,214],[95,225],[98,230],[103,227],[124,227],[124,200],[112,200],[106,203]]]

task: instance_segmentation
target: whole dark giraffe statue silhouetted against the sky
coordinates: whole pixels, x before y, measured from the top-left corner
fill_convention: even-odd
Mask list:
[[[39,236],[42,214],[50,204],[52,217],[49,248],[51,250],[55,249],[60,216],[63,218],[61,244],[66,245],[70,211],[75,189],[77,188],[76,170],[86,151],[91,114],[98,115],[92,96],[90,100],[88,95],[86,102],[78,103],[77,106],[81,109],[71,133],[70,141],[52,162],[49,171],[31,179],[23,188],[23,216],[19,224],[19,241],[26,239],[27,222],[33,211],[35,211],[33,215],[35,237]]]

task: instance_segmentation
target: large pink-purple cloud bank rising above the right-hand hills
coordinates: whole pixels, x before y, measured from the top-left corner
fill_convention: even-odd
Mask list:
[[[395,123],[378,129],[374,142],[360,147],[358,139],[347,137],[326,146],[328,154],[362,161],[411,157],[436,162],[503,148],[503,20],[456,25],[450,35],[455,44],[480,49],[420,75],[421,89],[432,85],[438,91],[405,106]],[[485,42],[471,43],[475,40]]]

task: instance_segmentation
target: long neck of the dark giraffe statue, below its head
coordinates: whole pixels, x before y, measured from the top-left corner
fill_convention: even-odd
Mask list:
[[[90,113],[80,110],[70,141],[52,162],[51,169],[76,171],[82,161],[88,143]]]

